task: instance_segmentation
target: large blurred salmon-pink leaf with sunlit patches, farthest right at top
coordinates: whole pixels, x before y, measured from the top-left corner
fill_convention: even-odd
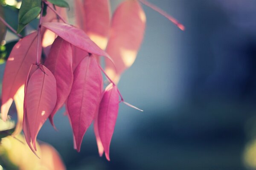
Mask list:
[[[114,82],[117,83],[120,74],[134,63],[143,40],[145,23],[145,13],[137,0],[125,0],[113,14],[106,51],[116,64],[116,71],[106,60],[106,73]]]

